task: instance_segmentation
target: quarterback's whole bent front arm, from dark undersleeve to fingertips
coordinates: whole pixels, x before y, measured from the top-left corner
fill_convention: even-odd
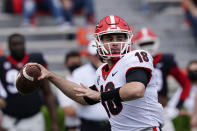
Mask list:
[[[77,95],[88,97],[93,101],[129,101],[144,96],[146,85],[149,82],[151,73],[148,70],[139,68],[128,71],[126,74],[127,83],[119,88],[106,92],[93,92],[87,87],[77,88]]]

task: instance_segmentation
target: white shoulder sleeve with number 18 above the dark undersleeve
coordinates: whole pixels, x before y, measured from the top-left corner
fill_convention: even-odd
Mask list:
[[[135,50],[132,51],[129,55],[124,58],[125,62],[125,70],[126,73],[131,72],[134,69],[143,69],[149,72],[148,74],[148,82],[152,77],[152,70],[153,70],[153,58],[152,56],[144,50]]]

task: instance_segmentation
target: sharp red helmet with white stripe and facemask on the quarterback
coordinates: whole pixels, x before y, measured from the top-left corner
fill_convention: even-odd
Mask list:
[[[101,36],[105,34],[111,33],[124,33],[126,35],[126,42],[109,42],[103,43],[101,40]],[[98,49],[98,54],[103,59],[111,59],[111,58],[121,58],[126,53],[131,51],[131,39],[133,37],[133,33],[129,27],[129,25],[120,18],[119,16],[106,16],[100,20],[99,24],[96,26],[95,31],[95,39]],[[119,53],[112,53],[110,44],[121,44],[121,49]],[[105,48],[105,44],[108,45],[108,50]]]

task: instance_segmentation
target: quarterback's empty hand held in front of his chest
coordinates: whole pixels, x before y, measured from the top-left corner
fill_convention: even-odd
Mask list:
[[[82,83],[80,83],[80,88],[74,88],[74,90],[76,91],[76,96],[81,96],[81,97],[88,97],[90,99],[93,99],[95,101],[99,101],[101,100],[101,93],[98,91],[94,91],[92,89],[90,89],[89,87],[83,85]]]

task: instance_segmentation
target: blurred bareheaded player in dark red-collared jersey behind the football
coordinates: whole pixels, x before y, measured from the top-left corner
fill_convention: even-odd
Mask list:
[[[27,62],[38,62],[44,67],[47,63],[40,53],[26,53],[25,38],[21,34],[8,37],[10,55],[0,57],[0,107],[3,118],[1,127],[6,131],[44,131],[45,123],[40,108],[45,104],[49,109],[53,123],[51,131],[58,131],[56,106],[49,83],[42,82],[41,92],[21,95],[15,87],[19,70]]]

